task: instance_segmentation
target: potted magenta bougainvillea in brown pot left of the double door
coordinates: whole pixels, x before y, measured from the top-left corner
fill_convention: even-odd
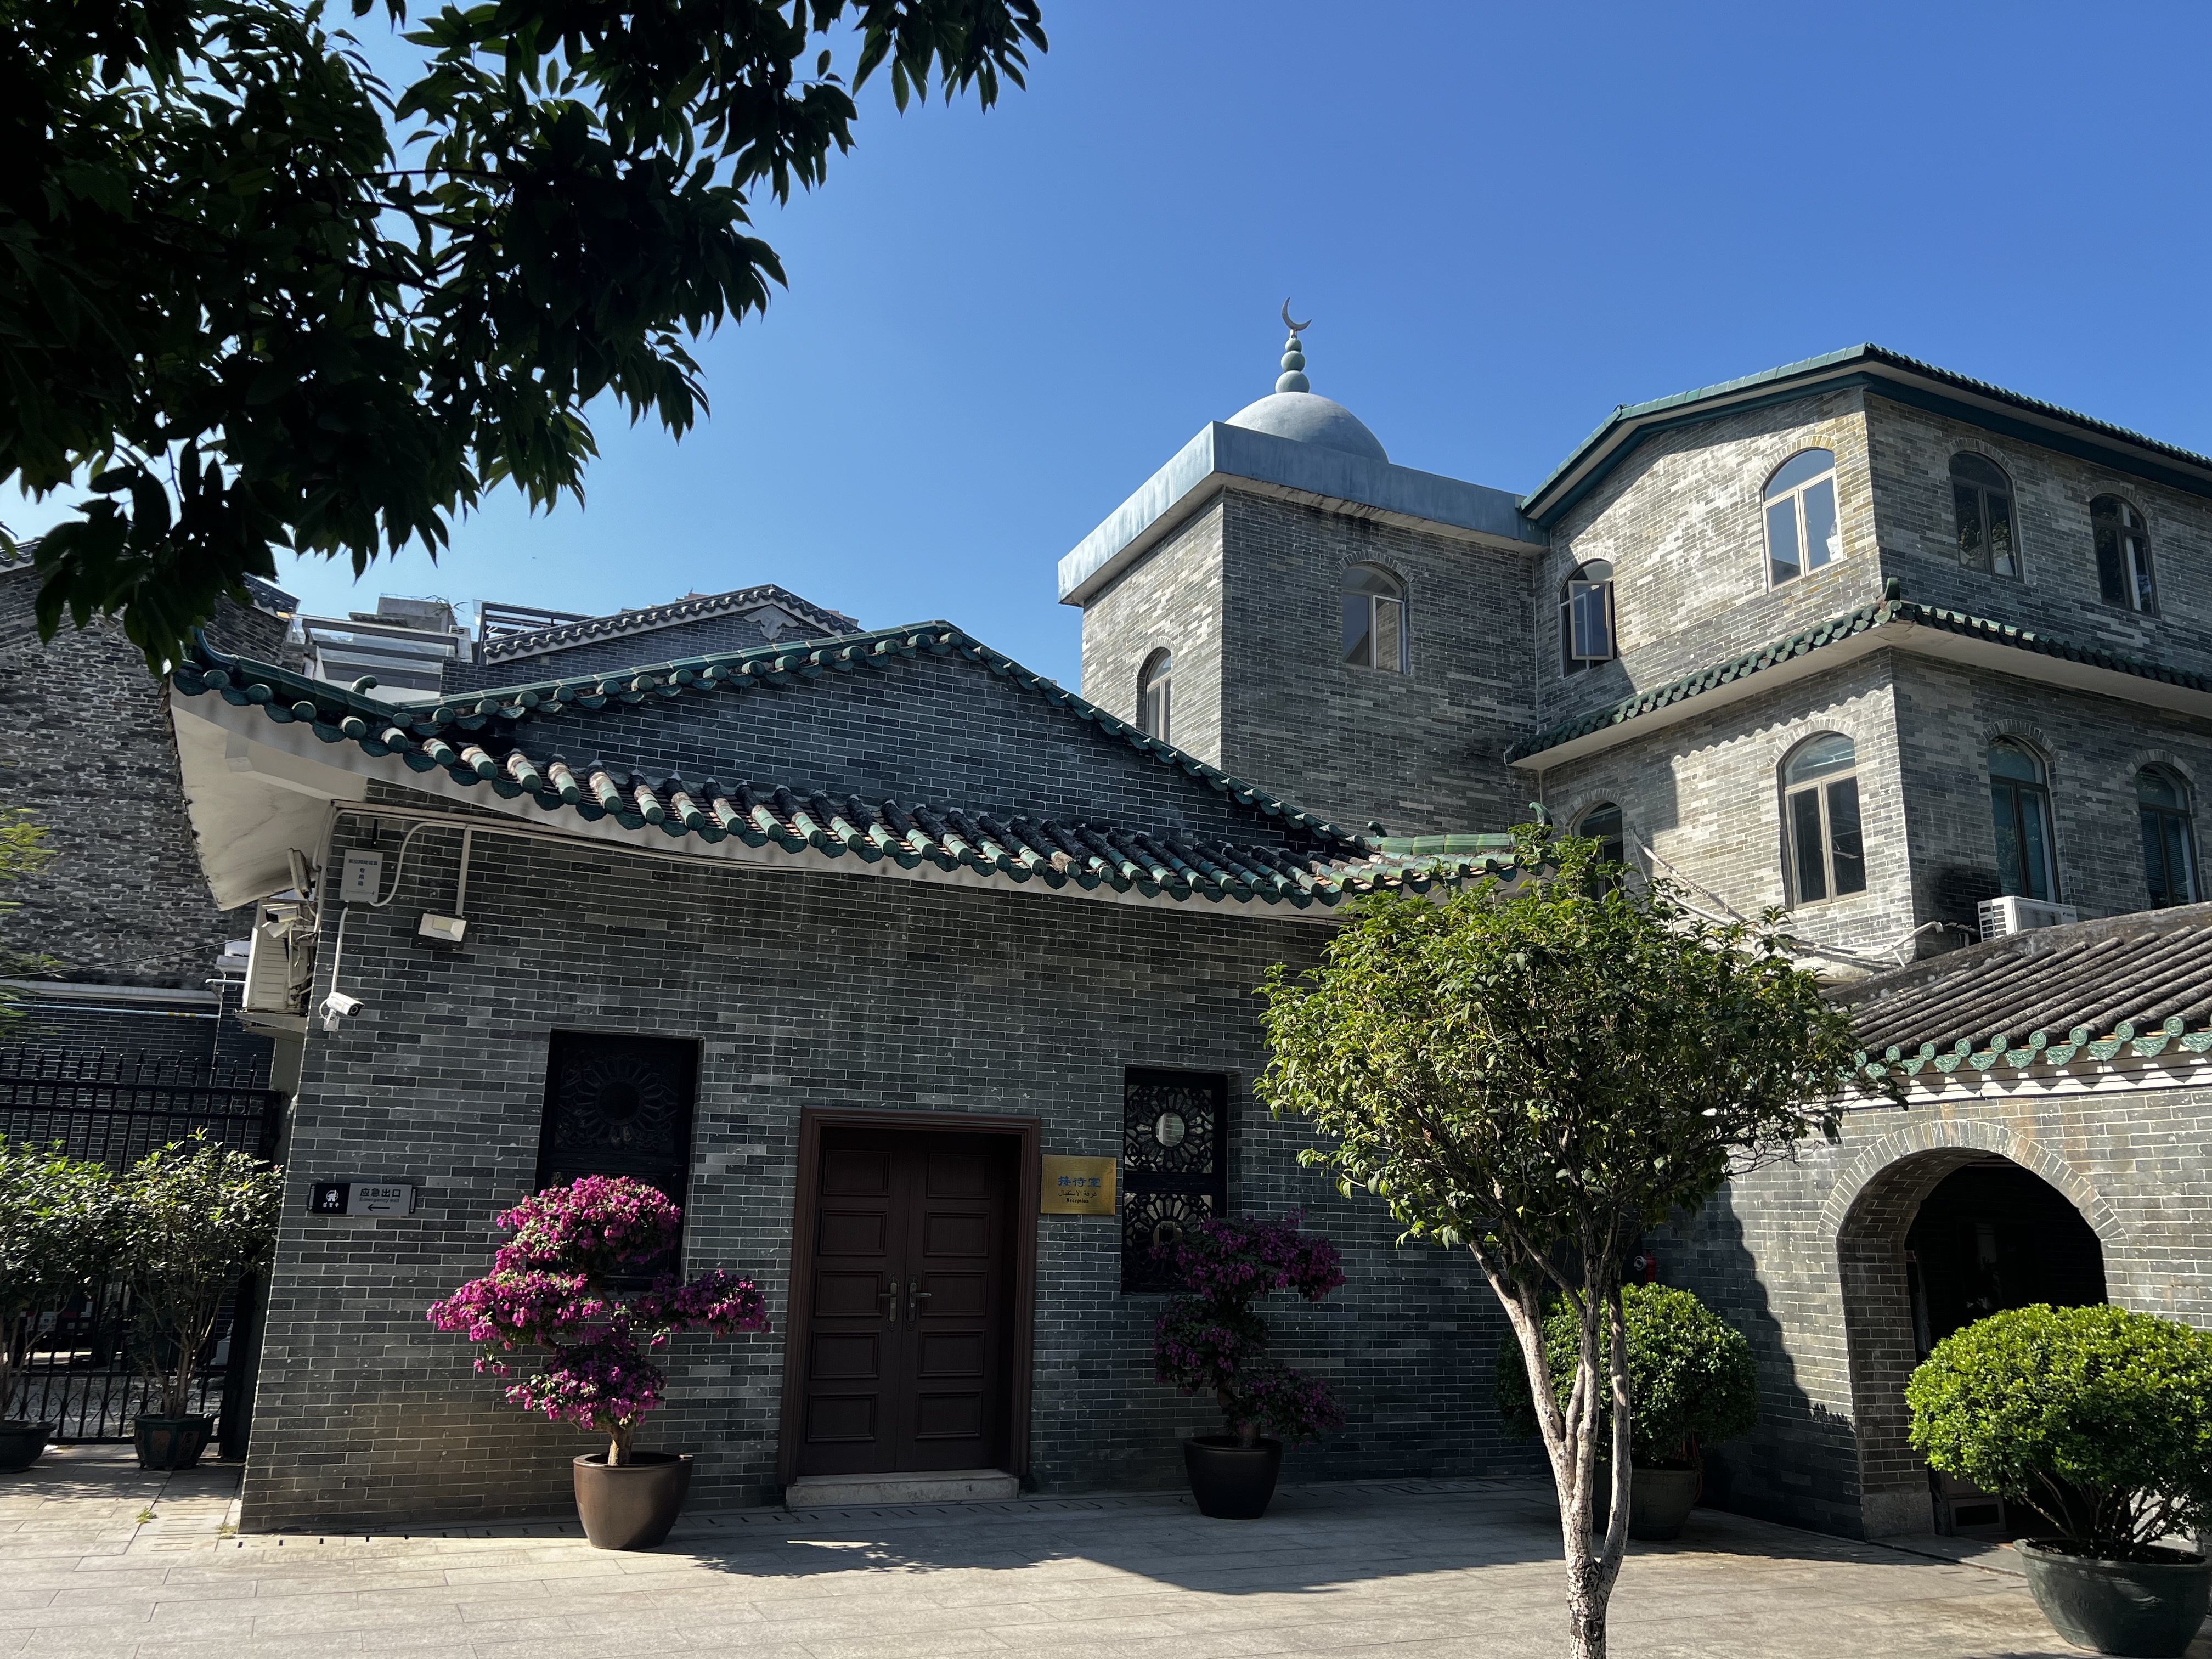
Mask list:
[[[628,1177],[546,1188],[498,1219],[513,1237],[491,1272],[429,1310],[431,1325],[482,1347],[478,1371],[529,1371],[507,1387],[511,1405],[606,1436],[606,1451],[571,1462],[584,1537],[604,1551],[659,1544],[690,1491],[690,1453],[635,1447],[666,1383],[653,1352],[679,1332],[768,1329],[750,1279],[646,1279],[670,1263],[681,1221],[668,1194]],[[624,1287],[641,1281],[648,1287]],[[544,1358],[511,1365],[522,1349]]]

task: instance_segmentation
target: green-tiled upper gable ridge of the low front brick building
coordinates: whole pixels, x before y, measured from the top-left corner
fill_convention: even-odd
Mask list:
[[[942,619],[905,624],[900,628],[872,628],[821,641],[794,639],[776,646],[748,646],[743,650],[701,657],[675,657],[664,664],[557,675],[524,686],[482,688],[451,697],[389,703],[290,668],[243,655],[226,655],[208,644],[206,633],[195,635],[195,661],[179,666],[173,675],[186,695],[217,690],[228,701],[261,703],[263,712],[274,721],[305,719],[316,726],[319,737],[327,732],[325,741],[352,739],[372,754],[387,754],[405,745],[411,752],[431,754],[431,761],[440,765],[447,765],[447,761],[440,761],[431,745],[453,754],[453,743],[445,741],[449,734],[467,734],[460,739],[462,748],[467,748],[476,741],[473,734],[491,721],[513,723],[538,712],[551,714],[566,708],[597,712],[608,706],[644,703],[648,697],[681,697],[695,690],[712,692],[723,686],[801,686],[810,679],[821,679],[825,672],[874,670],[883,668],[887,657],[914,657],[922,650],[938,657],[960,655],[980,664],[991,675],[1011,679],[1018,688],[1066,708],[1077,719],[1095,726],[1102,737],[1119,739],[1159,765],[1199,779],[1217,794],[1230,796],[1237,805],[1270,818],[1283,818],[1283,823],[1310,830],[1336,845],[1356,847],[1360,854],[1374,852],[1365,838],[1340,830],[1321,814],[1307,812],[1256,783],[1237,779],[1194,754],[1186,754],[1166,739],[1139,732],[1133,721],[1110,714],[1077,692],[1066,690],[1060,681],[1024,668],[1002,650],[993,650]],[[279,690],[288,695],[279,697]],[[394,737],[398,743],[392,743]],[[376,748],[369,748],[372,743]],[[478,776],[476,770],[462,768],[458,761],[451,765],[456,776],[467,772],[462,781]]]

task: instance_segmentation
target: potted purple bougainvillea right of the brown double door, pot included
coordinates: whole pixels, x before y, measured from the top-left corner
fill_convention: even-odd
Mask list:
[[[1290,1290],[1314,1303],[1345,1283],[1336,1245],[1281,1221],[1214,1221],[1159,1245],[1172,1254],[1183,1294],[1152,1332],[1152,1369],[1183,1394],[1212,1394],[1228,1433],[1183,1442],[1183,1469],[1199,1513],[1259,1520],[1283,1471],[1283,1444],[1318,1440],[1345,1416],[1314,1378],[1267,1356],[1267,1323],[1252,1305]]]

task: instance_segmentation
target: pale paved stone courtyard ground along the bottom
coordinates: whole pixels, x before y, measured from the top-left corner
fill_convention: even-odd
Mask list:
[[[237,1469],[58,1447],[0,1475],[0,1655],[42,1659],[734,1659],[1564,1650],[1548,1495],[1480,1480],[1296,1486],[1261,1522],[1179,1495],[688,1517],[659,1551],[575,1522],[352,1537],[230,1531]],[[2042,1659],[2020,1575],[1697,1511],[1639,1544],[1621,1659]],[[1955,1551],[1953,1551],[1955,1553]],[[2212,1637],[2190,1650],[2212,1659]]]

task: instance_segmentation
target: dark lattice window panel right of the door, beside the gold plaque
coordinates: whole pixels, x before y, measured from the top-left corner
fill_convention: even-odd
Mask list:
[[[1230,1079],[1130,1066],[1121,1082],[1121,1290],[1175,1290],[1152,1250],[1228,1212]]]

